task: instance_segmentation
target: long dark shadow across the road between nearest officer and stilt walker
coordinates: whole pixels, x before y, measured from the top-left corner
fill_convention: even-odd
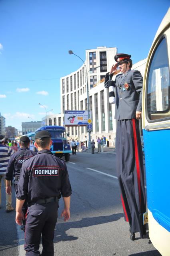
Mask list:
[[[66,231],[71,228],[86,228],[94,225],[100,225],[100,224],[116,221],[123,216],[124,216],[123,213],[116,213],[116,214],[107,215],[107,216],[83,218],[79,221],[58,223],[56,225],[54,243],[58,243],[60,241],[77,240],[78,237],[68,236],[68,234],[66,234]]]

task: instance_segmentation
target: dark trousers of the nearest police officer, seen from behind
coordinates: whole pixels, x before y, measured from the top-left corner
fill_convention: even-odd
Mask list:
[[[28,207],[26,215],[25,244],[26,256],[54,256],[54,229],[57,222],[58,201],[34,204]],[[42,234],[42,254],[40,239]]]

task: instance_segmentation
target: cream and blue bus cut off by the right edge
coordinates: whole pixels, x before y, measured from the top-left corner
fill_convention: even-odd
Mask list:
[[[146,64],[142,129],[149,237],[170,256],[170,22],[157,34]]]

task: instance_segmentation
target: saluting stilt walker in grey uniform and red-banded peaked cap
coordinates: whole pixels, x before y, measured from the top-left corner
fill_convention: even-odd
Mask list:
[[[130,239],[135,232],[142,238],[146,225],[142,224],[146,211],[142,146],[139,119],[142,114],[143,78],[138,70],[131,70],[131,55],[118,53],[110,74],[106,74],[105,87],[114,86],[116,127],[116,169],[121,189],[125,220],[130,224]],[[110,81],[120,67],[115,81]]]

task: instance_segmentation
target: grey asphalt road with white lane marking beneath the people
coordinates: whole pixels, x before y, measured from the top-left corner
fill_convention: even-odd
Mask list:
[[[63,209],[60,199],[54,236],[55,256],[160,256],[148,235],[140,239],[137,233],[135,241],[129,238],[116,179],[115,158],[115,154],[88,152],[70,157],[67,167],[72,185],[71,218],[64,223],[60,217]],[[0,256],[23,256],[24,232],[16,228],[15,213],[6,213],[4,205],[3,199]]]

